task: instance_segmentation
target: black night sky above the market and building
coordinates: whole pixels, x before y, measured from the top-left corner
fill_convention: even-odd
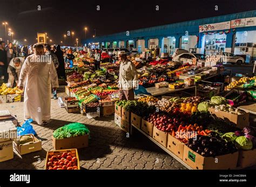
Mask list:
[[[41,11],[37,6],[41,5]],[[96,10],[96,6],[100,10]],[[159,11],[156,11],[159,5]],[[218,5],[218,11],[214,6]],[[214,17],[256,10],[256,0],[222,1],[66,1],[66,0],[0,0],[0,21],[8,21],[7,28],[14,31],[14,39],[36,42],[37,32],[47,32],[53,43],[64,42],[67,31],[75,32],[75,39],[106,35],[143,27],[177,23],[181,21]],[[4,26],[0,27],[0,38]],[[66,39],[71,43],[72,37]]]

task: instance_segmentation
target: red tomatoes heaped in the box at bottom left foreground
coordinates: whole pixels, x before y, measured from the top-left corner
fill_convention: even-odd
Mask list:
[[[64,152],[62,155],[49,155],[46,169],[48,170],[77,170],[77,157],[72,153]]]

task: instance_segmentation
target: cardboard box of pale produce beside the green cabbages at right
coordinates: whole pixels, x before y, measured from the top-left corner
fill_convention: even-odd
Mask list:
[[[223,118],[224,120],[231,121],[234,124],[237,125],[238,128],[244,128],[245,126],[249,125],[249,112],[246,112],[244,114],[232,114],[229,112],[224,112],[221,110],[215,110],[211,107],[208,108],[208,111],[212,114],[215,114],[215,116],[219,118]]]

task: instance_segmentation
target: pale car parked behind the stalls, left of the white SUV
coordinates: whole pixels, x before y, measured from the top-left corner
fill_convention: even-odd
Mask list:
[[[192,62],[193,58],[197,58],[198,62],[205,62],[205,55],[199,54],[199,53],[181,53],[177,56],[174,56],[172,58],[173,61],[181,62],[181,63],[187,63]]]

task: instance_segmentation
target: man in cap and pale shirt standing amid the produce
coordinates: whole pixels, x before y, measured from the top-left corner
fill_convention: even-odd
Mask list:
[[[138,74],[135,65],[127,59],[124,51],[118,52],[118,59],[120,61],[119,69],[119,99],[120,100],[134,100],[133,89],[138,87]]]

